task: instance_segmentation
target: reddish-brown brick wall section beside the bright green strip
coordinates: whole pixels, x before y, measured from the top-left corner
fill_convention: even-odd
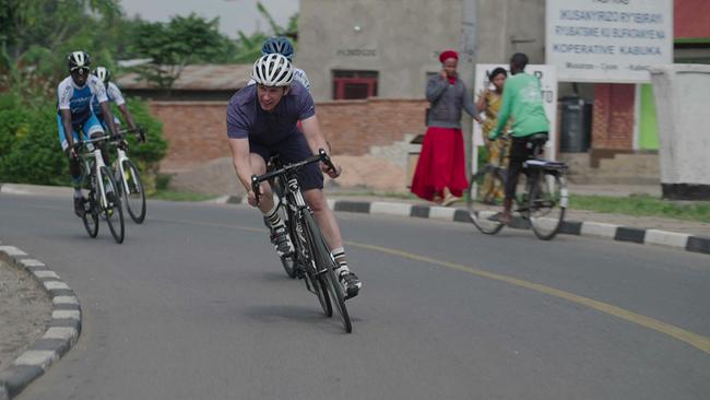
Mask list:
[[[634,84],[594,85],[593,149],[634,149]]]

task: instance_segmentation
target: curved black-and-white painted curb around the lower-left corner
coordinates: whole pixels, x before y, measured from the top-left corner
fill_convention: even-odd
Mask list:
[[[32,274],[51,298],[51,321],[45,334],[22,353],[10,367],[0,370],[0,400],[9,400],[40,377],[79,339],[82,313],[79,298],[59,275],[14,246],[0,246],[0,258]]]

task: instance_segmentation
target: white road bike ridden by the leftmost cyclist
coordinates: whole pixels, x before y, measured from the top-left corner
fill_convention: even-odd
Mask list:
[[[74,143],[82,166],[84,186],[88,189],[81,219],[88,236],[96,237],[98,216],[103,215],[114,240],[121,244],[125,238],[123,209],[121,199],[116,195],[118,186],[114,174],[104,163],[99,145],[99,142],[107,139],[110,139],[109,134],[102,134]]]

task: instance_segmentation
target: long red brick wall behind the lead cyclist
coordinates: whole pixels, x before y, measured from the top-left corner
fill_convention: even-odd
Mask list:
[[[363,155],[372,145],[424,133],[426,107],[425,101],[367,99],[319,103],[316,109],[334,154]],[[226,103],[153,102],[151,109],[163,121],[169,142],[162,170],[177,172],[230,155]]]

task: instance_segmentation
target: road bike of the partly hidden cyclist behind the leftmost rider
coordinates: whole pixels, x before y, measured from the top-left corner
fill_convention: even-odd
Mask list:
[[[126,210],[131,220],[137,224],[145,221],[145,190],[143,181],[138,172],[135,164],[128,157],[128,143],[125,138],[127,134],[138,136],[139,141],[145,141],[143,129],[122,129],[111,137],[109,143],[116,149],[117,157],[114,162],[116,183],[118,184],[118,193],[126,203]]]

